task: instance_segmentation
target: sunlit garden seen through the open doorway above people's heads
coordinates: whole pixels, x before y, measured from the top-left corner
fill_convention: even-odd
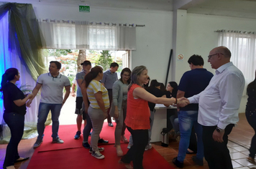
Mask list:
[[[111,62],[117,62],[119,69],[117,73],[120,77],[120,72],[124,67],[131,69],[130,63],[130,51],[108,51],[108,50],[84,50],[85,54],[79,58],[78,54],[81,54],[81,50],[71,49],[44,49],[45,65],[48,65],[50,61],[57,60],[62,64],[60,72],[67,77],[76,76],[79,72],[79,66],[84,60],[89,60],[92,67],[101,65],[104,69],[109,69]],[[71,78],[72,79],[72,78]]]

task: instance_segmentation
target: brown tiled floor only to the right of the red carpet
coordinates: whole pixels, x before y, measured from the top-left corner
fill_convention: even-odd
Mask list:
[[[231,134],[229,135],[229,152],[232,158],[233,168],[239,169],[249,169],[255,168],[256,165],[247,162],[246,158],[249,155],[250,143],[252,136],[254,135],[254,130],[248,124],[244,113],[239,114],[239,122],[237,126],[233,128]],[[178,154],[178,143],[175,140],[170,140],[169,147],[163,148],[160,146],[160,143],[155,143],[153,147],[163,155],[165,160],[167,160],[170,165],[173,165],[172,160]],[[201,168],[208,169],[208,165],[206,160],[204,161],[204,166],[198,166],[193,163],[191,160],[192,155],[186,155],[186,159],[184,160],[184,168],[192,169],[192,168]],[[175,166],[175,165],[173,165]]]

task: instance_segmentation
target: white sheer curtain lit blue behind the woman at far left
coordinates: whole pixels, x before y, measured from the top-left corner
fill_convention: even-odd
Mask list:
[[[8,24],[8,14],[6,14],[1,20],[0,20],[0,81],[1,76],[4,74],[6,69],[9,69],[10,67],[15,67],[19,69],[20,72],[20,80],[17,82],[17,86],[20,87],[21,85],[27,85],[27,88],[30,90],[33,90],[35,87],[35,80],[32,79],[29,72],[27,72],[26,67],[22,64],[22,61],[20,59],[19,49],[10,51],[12,45],[12,41],[9,39],[9,24]],[[13,48],[12,48],[13,49]],[[25,130],[30,130],[31,128],[37,127],[37,111],[38,111],[38,105],[40,101],[40,96],[37,95],[35,97],[35,100],[33,100],[33,104],[31,107],[27,107],[27,113],[25,115]],[[4,105],[3,100],[0,100],[0,122],[2,125],[4,125],[3,120],[3,114],[4,114]],[[3,131],[4,140],[9,140],[10,132],[9,128],[4,125],[4,131]]]

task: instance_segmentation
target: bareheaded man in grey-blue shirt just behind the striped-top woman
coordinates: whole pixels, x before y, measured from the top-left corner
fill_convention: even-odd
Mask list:
[[[109,111],[111,108],[111,102],[112,102],[112,87],[114,82],[116,82],[117,78],[117,74],[116,71],[119,67],[119,64],[117,64],[116,62],[113,62],[110,64],[110,68],[108,70],[106,70],[103,73],[103,78],[101,80],[101,83],[104,85],[104,87],[106,87],[106,89],[109,92],[109,109],[108,109],[108,123],[110,127],[113,127],[112,121],[111,121],[111,117],[109,115]]]

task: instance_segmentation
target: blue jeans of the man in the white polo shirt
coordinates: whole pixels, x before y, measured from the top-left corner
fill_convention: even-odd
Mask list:
[[[47,120],[47,116],[49,111],[52,113],[52,139],[58,137],[59,130],[59,116],[62,104],[49,104],[40,102],[38,109],[38,120],[37,120],[37,132],[38,137],[37,140],[42,140],[44,137],[45,131],[45,121]]]

